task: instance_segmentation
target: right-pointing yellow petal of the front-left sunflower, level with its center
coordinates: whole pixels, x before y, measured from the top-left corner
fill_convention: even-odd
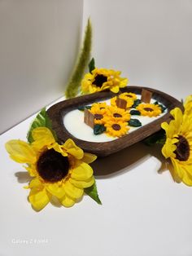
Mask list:
[[[85,162],[72,170],[71,177],[76,180],[87,180],[93,175],[93,169]]]

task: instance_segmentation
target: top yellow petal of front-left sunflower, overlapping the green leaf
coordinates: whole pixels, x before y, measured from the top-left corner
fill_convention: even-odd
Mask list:
[[[32,136],[34,142],[32,143],[33,147],[37,150],[49,146],[52,143],[55,143],[54,135],[46,127],[37,127],[33,129]]]

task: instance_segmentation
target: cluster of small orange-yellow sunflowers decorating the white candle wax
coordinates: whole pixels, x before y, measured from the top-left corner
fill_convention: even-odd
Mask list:
[[[124,99],[125,109],[120,108],[117,99]],[[145,117],[157,117],[162,113],[159,104],[144,104],[137,95],[132,92],[124,92],[110,99],[111,105],[106,102],[92,104],[89,112],[94,115],[94,125],[103,126],[101,133],[105,131],[106,135],[111,137],[121,137],[129,131],[129,126],[142,126],[137,119],[131,119],[131,108],[136,108],[137,115]],[[135,105],[137,103],[137,106]],[[137,121],[133,125],[133,121]],[[132,125],[131,125],[132,123]],[[95,135],[100,133],[97,132]]]

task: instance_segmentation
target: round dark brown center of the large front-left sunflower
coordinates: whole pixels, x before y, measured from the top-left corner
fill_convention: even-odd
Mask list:
[[[55,183],[62,180],[68,174],[68,157],[63,157],[53,148],[49,149],[39,157],[37,170],[42,179]]]

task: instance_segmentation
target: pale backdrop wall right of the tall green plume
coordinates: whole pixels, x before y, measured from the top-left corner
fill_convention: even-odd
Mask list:
[[[85,0],[98,67],[120,69],[130,85],[192,93],[191,0]]]

